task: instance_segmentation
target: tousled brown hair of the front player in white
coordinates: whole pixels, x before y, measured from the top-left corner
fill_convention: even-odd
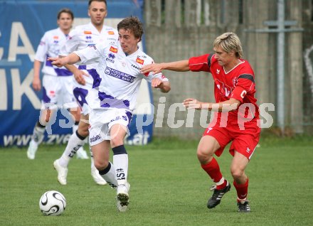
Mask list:
[[[120,21],[120,23],[117,24],[117,31],[120,31],[120,29],[132,31],[135,38],[140,38],[140,41],[142,40],[144,26],[137,16],[129,16]]]

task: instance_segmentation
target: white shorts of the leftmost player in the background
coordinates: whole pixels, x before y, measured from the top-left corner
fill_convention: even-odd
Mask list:
[[[72,76],[43,75],[42,109],[76,108]]]

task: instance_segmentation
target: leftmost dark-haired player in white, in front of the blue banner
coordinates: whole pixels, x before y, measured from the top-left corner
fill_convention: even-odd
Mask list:
[[[27,150],[29,159],[35,158],[38,145],[43,140],[46,124],[58,107],[70,109],[75,122],[79,122],[80,119],[78,104],[73,95],[72,72],[66,68],[55,67],[47,60],[48,57],[58,56],[60,46],[65,43],[72,27],[74,15],[70,9],[61,9],[57,18],[59,27],[43,35],[33,63],[33,89],[36,91],[41,90],[40,70],[43,63],[43,99],[41,115],[33,129],[33,136]]]

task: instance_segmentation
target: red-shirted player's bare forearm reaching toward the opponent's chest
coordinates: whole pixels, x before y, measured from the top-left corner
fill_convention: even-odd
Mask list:
[[[152,63],[150,65],[144,65],[140,72],[147,73],[147,72],[154,72],[157,74],[162,70],[174,70],[174,71],[189,71],[189,60],[180,60],[170,63]]]

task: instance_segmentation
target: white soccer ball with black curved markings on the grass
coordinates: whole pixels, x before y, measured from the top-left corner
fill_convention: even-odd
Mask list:
[[[64,212],[66,200],[64,195],[56,190],[48,190],[39,200],[39,208],[43,215],[58,216]]]

